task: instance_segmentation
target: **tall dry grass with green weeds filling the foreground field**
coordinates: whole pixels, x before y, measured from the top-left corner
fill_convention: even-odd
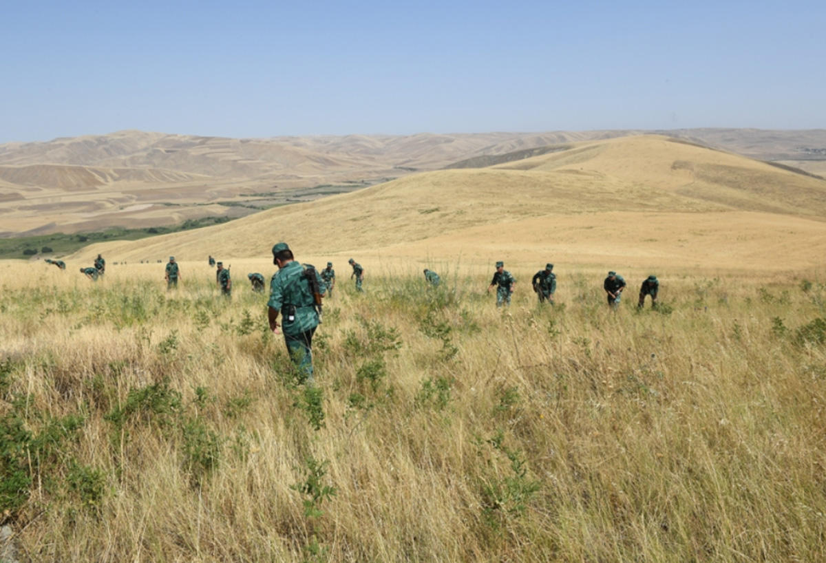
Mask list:
[[[31,560],[826,559],[816,281],[664,275],[639,312],[621,272],[614,311],[558,267],[556,306],[515,272],[496,310],[492,272],[339,271],[307,390],[245,272],[227,301],[206,267],[27,268],[0,271],[28,482],[0,499]]]

